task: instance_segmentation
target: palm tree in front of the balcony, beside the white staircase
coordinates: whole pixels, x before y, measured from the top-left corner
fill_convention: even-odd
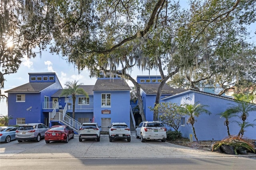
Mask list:
[[[76,95],[84,95],[86,97],[88,97],[88,94],[86,93],[86,91],[84,91],[84,89],[79,88],[79,86],[82,85],[82,83],[78,84],[78,81],[67,81],[65,83],[66,88],[63,89],[61,96],[65,96],[68,97],[69,95],[72,96],[72,102],[73,102],[73,113],[72,113],[72,117],[73,119],[75,119],[75,103],[76,103]]]

